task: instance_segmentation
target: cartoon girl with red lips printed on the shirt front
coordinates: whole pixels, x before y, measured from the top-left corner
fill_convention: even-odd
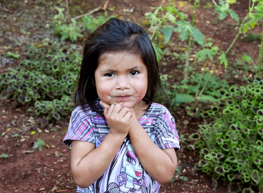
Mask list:
[[[121,192],[145,192],[143,185],[143,169],[134,153],[133,146],[128,144],[122,158],[120,175],[117,177]],[[141,188],[142,186],[142,188]],[[141,189],[141,190],[140,190]]]

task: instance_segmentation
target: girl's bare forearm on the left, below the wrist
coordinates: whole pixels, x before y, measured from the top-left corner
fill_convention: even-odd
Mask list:
[[[108,133],[101,144],[88,153],[71,171],[76,184],[87,188],[99,179],[108,169],[125,136]]]

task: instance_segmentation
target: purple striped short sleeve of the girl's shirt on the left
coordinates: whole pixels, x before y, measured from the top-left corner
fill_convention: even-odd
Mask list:
[[[68,131],[63,143],[71,146],[72,140],[79,140],[95,144],[93,128],[92,115],[77,107],[71,114]]]

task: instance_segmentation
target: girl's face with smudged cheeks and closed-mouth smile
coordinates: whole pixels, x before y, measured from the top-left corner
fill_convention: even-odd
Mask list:
[[[148,71],[139,55],[116,52],[100,57],[95,71],[95,86],[103,102],[133,107],[136,112],[145,105],[142,99],[147,85]]]

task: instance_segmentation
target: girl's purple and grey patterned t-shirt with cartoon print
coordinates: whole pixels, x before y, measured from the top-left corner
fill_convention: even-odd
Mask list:
[[[96,102],[96,107],[103,112],[99,100]],[[152,103],[138,122],[162,150],[174,148],[177,152],[180,149],[174,118],[163,105]],[[95,147],[98,147],[109,131],[103,116],[93,112],[88,105],[85,106],[85,110],[78,106],[71,114],[63,142],[71,146],[71,140],[80,140],[94,143]],[[160,184],[143,169],[127,137],[106,172],[87,188],[77,186],[76,192],[158,193],[159,188]]]

